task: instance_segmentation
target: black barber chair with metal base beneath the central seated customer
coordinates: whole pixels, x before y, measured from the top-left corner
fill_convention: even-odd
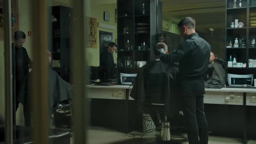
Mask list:
[[[171,105],[174,106],[172,100],[175,98],[172,96],[177,95],[174,80],[171,81],[166,73],[145,73],[144,75],[147,79],[144,83],[143,112],[150,114],[156,128],[161,128],[160,142],[152,144],[180,144],[171,141],[171,124],[167,120],[167,112],[171,112],[167,109],[170,110]]]

